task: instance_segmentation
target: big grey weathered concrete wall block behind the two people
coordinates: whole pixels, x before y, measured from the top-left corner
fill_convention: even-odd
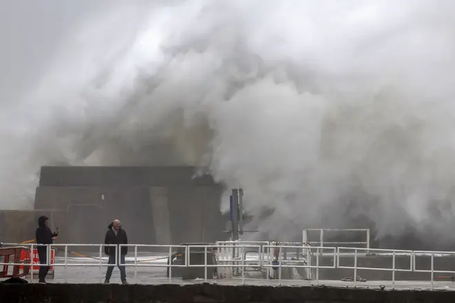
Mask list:
[[[219,211],[223,187],[210,176],[195,177],[194,171],[194,167],[42,167],[35,209],[43,209],[43,214],[52,211],[50,225],[59,226],[59,242],[102,242],[114,218],[122,221],[130,243],[222,240],[226,236]]]

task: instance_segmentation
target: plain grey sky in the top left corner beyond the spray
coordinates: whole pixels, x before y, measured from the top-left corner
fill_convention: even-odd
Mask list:
[[[17,101],[26,85],[36,81],[62,36],[85,14],[97,10],[97,1],[1,0],[0,96],[2,103]]]

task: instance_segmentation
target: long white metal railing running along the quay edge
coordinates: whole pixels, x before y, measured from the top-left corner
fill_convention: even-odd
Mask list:
[[[10,244],[12,245],[12,244]],[[28,247],[30,251],[33,252],[33,249],[38,246],[43,246],[39,244],[15,244],[19,247]],[[8,244],[5,244],[8,247]],[[434,260],[436,258],[443,258],[447,256],[455,256],[455,252],[452,251],[403,251],[403,250],[391,250],[391,249],[370,249],[370,248],[353,248],[353,247],[308,247],[307,244],[280,244],[274,245],[270,244],[270,242],[238,242],[236,241],[234,244],[232,242],[218,242],[217,244],[212,245],[159,245],[159,244],[121,244],[119,246],[115,244],[52,244],[45,245],[47,247],[47,262],[46,264],[34,264],[33,258],[30,258],[30,264],[21,263],[0,263],[0,265],[10,265],[10,266],[26,266],[29,265],[30,269],[33,266],[39,267],[60,267],[64,268],[65,275],[68,267],[99,267],[99,270],[103,267],[110,267],[110,266],[120,266],[120,267],[134,267],[134,276],[136,277],[137,269],[139,267],[166,267],[168,268],[168,282],[172,283],[172,269],[173,268],[183,268],[183,267],[203,267],[204,268],[204,281],[208,281],[208,270],[210,269],[228,269],[232,271],[233,269],[238,270],[238,275],[232,275],[233,277],[240,278],[241,283],[245,284],[245,280],[252,280],[250,278],[245,277],[245,273],[247,272],[247,268],[255,268],[255,269],[263,269],[267,276],[264,278],[266,280],[276,280],[279,284],[282,281],[287,280],[283,279],[282,271],[286,268],[293,268],[293,269],[306,269],[307,271],[314,271],[316,284],[320,282],[320,270],[321,269],[348,269],[352,270],[354,278],[352,280],[352,286],[359,286],[357,281],[357,273],[358,271],[390,271],[392,277],[390,282],[392,282],[392,288],[396,286],[396,273],[398,272],[409,272],[409,273],[429,273],[429,282],[430,282],[430,289],[434,289],[434,274],[435,273],[455,273],[455,271],[449,270],[439,270],[435,269],[434,267]],[[63,251],[64,257],[63,262],[53,262],[51,264],[50,261],[50,249],[54,247]],[[98,247],[99,248],[99,255],[97,257],[90,257],[93,258],[94,262],[85,262],[80,258],[68,258],[68,254],[72,253],[69,251],[69,247]],[[103,256],[103,248],[104,247],[115,247],[115,263],[108,264],[106,262],[106,258]],[[133,260],[125,261],[124,264],[120,262],[120,253],[122,247],[133,247],[134,248],[134,258]],[[166,249],[167,252],[163,253],[161,257],[154,258],[152,260],[139,260],[138,256],[138,249]],[[183,258],[183,264],[174,264],[172,261],[176,258],[176,254],[173,249],[177,249],[185,254],[185,258]],[[190,254],[194,249],[203,249],[204,253],[204,262],[203,264],[191,264],[190,263]],[[214,262],[214,264],[209,264],[208,262],[208,252],[215,250],[218,252],[218,256],[220,257],[219,251],[222,249],[231,249],[232,251],[236,250],[237,254],[232,255],[232,251],[228,251],[227,254],[221,255],[221,258]],[[245,251],[257,251],[258,255],[256,258],[247,258]],[[295,258],[283,258],[283,251],[285,249],[295,249],[296,251],[300,251],[301,249],[306,251],[312,251],[313,253],[308,258],[308,255],[302,254],[306,256],[306,259],[296,260]],[[332,251],[332,253],[322,253],[323,251]],[[343,251],[352,251],[352,253],[343,253]],[[365,251],[369,253],[375,253],[376,255],[383,255],[392,258],[392,265],[390,268],[386,267],[366,267],[366,266],[359,266],[358,264],[358,257],[365,256]],[[210,254],[209,254],[210,255]],[[327,262],[327,257],[330,259],[331,263]],[[398,268],[396,266],[396,258],[397,257],[409,257],[409,267],[406,268]],[[342,264],[341,258],[345,260],[346,258],[353,258],[354,264],[346,265]],[[430,268],[429,269],[416,269],[416,258],[423,258],[429,257],[430,258]],[[61,258],[61,257],[60,257]],[[326,258],[325,264],[321,264],[321,258]],[[166,262],[158,262],[157,260],[166,260]],[[212,262],[210,262],[212,263]],[[274,273],[276,275],[271,275]],[[175,277],[174,277],[175,278]],[[219,276],[217,278],[220,278]],[[33,281],[33,270],[30,270],[30,280]],[[323,279],[327,281],[327,279]],[[65,276],[66,282],[66,276]],[[175,282],[175,280],[174,280]],[[272,282],[272,281],[270,281]],[[293,280],[295,282],[295,280]],[[341,284],[341,283],[340,283]]]

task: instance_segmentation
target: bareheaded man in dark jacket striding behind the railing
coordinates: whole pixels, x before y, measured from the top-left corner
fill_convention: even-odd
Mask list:
[[[120,264],[125,264],[125,255],[128,253],[128,247],[121,247],[119,250],[119,244],[128,244],[128,237],[126,236],[126,231],[121,229],[121,224],[119,220],[114,220],[108,226],[108,232],[106,233],[105,244],[117,244],[117,251],[120,253]],[[116,247],[104,247],[104,252],[106,255],[109,255],[109,262],[108,264],[115,264],[115,250]],[[118,258],[118,257],[117,257]],[[125,266],[121,266],[119,264],[120,269],[120,279],[122,284],[128,284],[126,282],[126,271]],[[114,266],[108,267],[108,271],[106,271],[106,278],[104,283],[107,284],[110,281],[110,277],[112,275],[112,271],[114,270]]]

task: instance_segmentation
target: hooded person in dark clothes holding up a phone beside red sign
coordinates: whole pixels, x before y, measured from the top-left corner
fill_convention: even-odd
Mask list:
[[[54,240],[57,239],[59,236],[59,232],[56,231],[52,233],[49,227],[49,220],[46,216],[41,216],[38,218],[38,228],[35,232],[35,239],[37,240],[37,244],[52,244]],[[48,263],[48,246],[39,245],[37,247],[38,256],[39,256],[39,264],[47,264]],[[40,283],[45,283],[45,276],[48,274],[50,267],[39,267],[38,278]]]

